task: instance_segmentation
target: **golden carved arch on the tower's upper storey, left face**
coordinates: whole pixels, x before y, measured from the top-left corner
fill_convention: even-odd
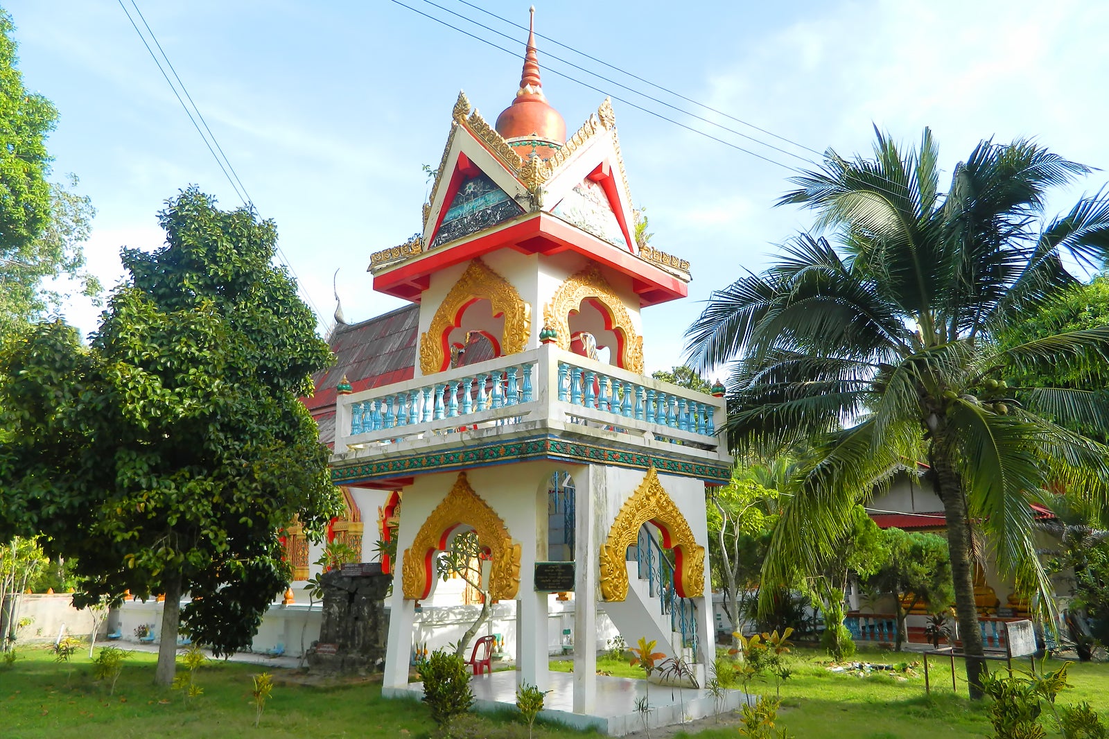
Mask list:
[[[501,354],[517,354],[527,348],[531,335],[531,305],[520,297],[512,283],[489,267],[481,257],[475,257],[442,298],[427,331],[420,335],[419,366],[425,375],[447,368],[450,360],[447,347],[450,328],[457,324],[470,303],[481,298],[492,304],[494,317],[505,316]]]

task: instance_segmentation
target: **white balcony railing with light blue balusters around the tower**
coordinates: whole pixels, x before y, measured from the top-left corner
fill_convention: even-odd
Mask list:
[[[545,345],[340,395],[335,451],[548,422],[723,459],[726,448],[716,436],[723,417],[723,398]]]

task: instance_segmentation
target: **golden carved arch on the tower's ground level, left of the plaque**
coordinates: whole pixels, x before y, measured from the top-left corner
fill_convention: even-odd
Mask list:
[[[520,545],[512,541],[500,516],[474,492],[465,472],[458,473],[447,497],[428,515],[413,545],[405,549],[400,570],[405,598],[428,597],[435,581],[435,553],[447,547],[447,538],[459,526],[472,527],[481,545],[489,548],[492,560],[489,595],[497,600],[516,598],[520,589]]]

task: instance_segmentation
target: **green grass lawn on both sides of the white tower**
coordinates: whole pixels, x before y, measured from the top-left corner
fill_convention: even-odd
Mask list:
[[[815,650],[792,655],[793,676],[782,686],[783,709],[779,726],[797,739],[956,739],[990,736],[986,706],[974,705],[950,691],[950,670],[937,660],[933,670],[933,695],[924,692],[924,678],[897,679],[888,675],[855,677],[825,669],[827,659]],[[858,659],[898,662],[918,655],[864,652]],[[45,648],[24,647],[11,667],[0,665],[0,737],[3,739],[104,737],[227,737],[252,736],[254,707],[252,676],[258,665],[212,661],[196,674],[204,694],[192,706],[181,691],[153,686],[155,655],[133,652],[125,662],[115,695],[93,679],[88,651],[75,655],[72,674],[53,661]],[[991,662],[995,669],[999,662]],[[1027,662],[1025,662],[1027,665]],[[1057,669],[1049,661],[1047,669]],[[551,669],[569,671],[572,664],[554,660]],[[625,659],[598,659],[598,669],[618,677],[639,677]],[[179,664],[179,672],[182,667]],[[419,702],[385,700],[373,679],[304,685],[293,670],[272,670],[277,682],[262,718],[258,736],[269,737],[427,737],[434,728],[427,708]],[[956,661],[959,688],[963,665]],[[1060,696],[1061,703],[1088,700],[1109,717],[1109,665],[1074,665],[1074,689]],[[946,689],[945,689],[946,686]],[[773,694],[773,682],[752,686],[752,692]],[[964,692],[965,695],[965,692]],[[1047,726],[1047,722],[1045,722]],[[527,729],[511,712],[467,717],[459,727],[462,737],[510,739],[526,737]],[[537,727],[536,737],[580,737],[561,727]],[[689,736],[682,735],[679,736]],[[709,729],[700,739],[735,737],[734,727]],[[1049,731],[1048,736],[1056,736]]]

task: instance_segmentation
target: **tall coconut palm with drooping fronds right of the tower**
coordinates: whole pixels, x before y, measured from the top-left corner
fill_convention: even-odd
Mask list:
[[[817,571],[855,504],[895,470],[927,463],[947,520],[967,679],[980,697],[971,529],[1019,588],[1046,596],[1029,503],[1049,484],[1101,505],[1109,497],[1109,451],[1059,425],[1109,425],[1105,397],[1005,382],[1049,363],[1109,361],[1109,326],[1008,348],[993,337],[1076,283],[1065,257],[1101,264],[1109,196],[1045,222],[1047,191],[1089,168],[1030,141],[983,141],[940,193],[930,131],[904,152],[875,132],[873,159],[828,150],[779,202],[816,211],[831,241],[802,234],[762,274],[714,292],[688,348],[701,371],[734,363],[726,432],[737,452],[812,449],[764,578],[788,581],[798,563]]]

